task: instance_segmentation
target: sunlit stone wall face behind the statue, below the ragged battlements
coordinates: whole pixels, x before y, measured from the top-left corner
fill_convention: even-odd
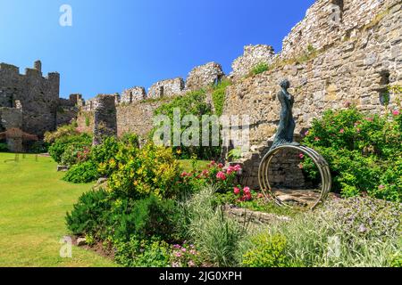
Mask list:
[[[377,1],[366,1],[364,6],[371,2]],[[401,4],[397,1],[387,1],[387,4],[379,12],[381,17],[356,27],[354,36],[339,45],[318,51],[301,63],[279,61],[276,68],[231,85],[226,93],[224,114],[249,114],[252,143],[266,142],[275,134],[279,123],[280,104],[276,94],[283,77],[292,85],[290,93],[295,96],[294,117],[299,134],[311,126],[314,118],[322,116],[324,110],[342,109],[347,102],[359,110],[383,111],[382,96],[387,85],[402,81]],[[395,103],[396,98],[391,94],[390,107]]]

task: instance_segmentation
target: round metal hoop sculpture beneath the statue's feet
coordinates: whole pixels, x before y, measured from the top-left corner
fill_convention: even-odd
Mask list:
[[[331,191],[331,186],[332,186],[332,178],[331,178],[331,172],[330,172],[330,167],[328,165],[328,162],[322,158],[322,155],[319,154],[317,151],[314,151],[313,149],[307,148],[306,146],[302,145],[292,145],[292,144],[283,144],[272,151],[269,151],[265,156],[264,159],[261,161],[259,170],[258,170],[258,181],[260,183],[261,190],[264,192],[264,195],[266,198],[268,198],[267,191],[272,195],[272,197],[275,199],[277,203],[282,205],[282,202],[275,197],[275,195],[272,193],[272,188],[270,184],[270,179],[269,179],[269,167],[272,162],[272,158],[277,154],[279,151],[284,150],[284,149],[292,149],[292,150],[297,150],[301,151],[304,154],[306,154],[310,159],[313,159],[314,164],[316,167],[318,167],[318,170],[320,171],[321,174],[321,180],[322,180],[322,190],[321,190],[321,195],[320,198],[317,199],[314,203],[314,206],[311,209],[314,209],[320,204],[320,202],[324,201],[325,199],[328,198],[328,194]]]

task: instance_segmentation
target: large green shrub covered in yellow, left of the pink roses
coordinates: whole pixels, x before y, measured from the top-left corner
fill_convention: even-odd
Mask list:
[[[143,199],[151,194],[170,199],[180,194],[181,167],[172,149],[148,143],[143,148],[121,145],[114,159],[102,164],[100,170],[112,172],[109,188],[115,197]]]

